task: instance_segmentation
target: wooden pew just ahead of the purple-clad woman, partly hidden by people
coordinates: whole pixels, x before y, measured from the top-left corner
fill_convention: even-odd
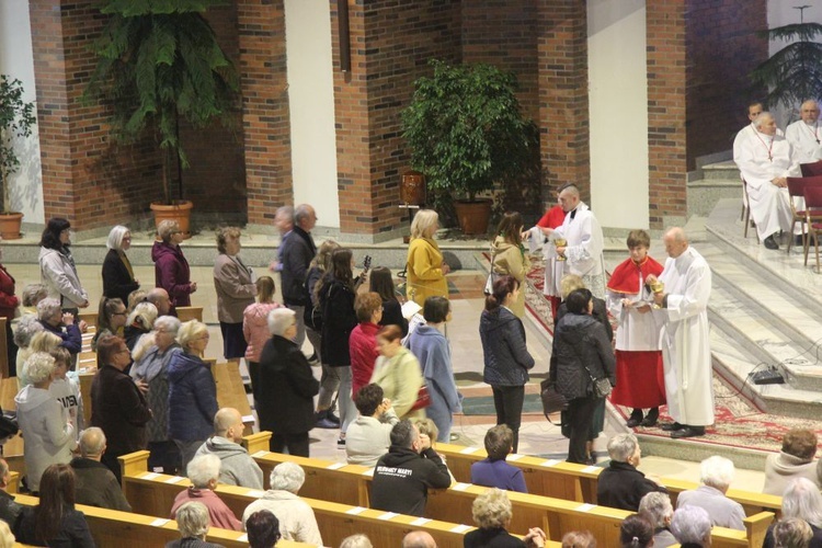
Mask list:
[[[454,478],[465,482],[471,481],[471,465],[488,456],[480,447],[442,443],[436,444],[436,450],[446,458]],[[509,455],[507,463],[523,470],[529,493],[596,504],[596,482],[603,470],[598,466],[576,465],[527,455]],[[662,478],[661,481],[671,493],[674,507],[676,496],[681,492],[699,487],[693,481],[675,478]],[[781,496],[741,489],[729,489],[727,494],[729,499],[742,504],[747,516],[763,511],[773,512],[778,516],[781,512]]]

